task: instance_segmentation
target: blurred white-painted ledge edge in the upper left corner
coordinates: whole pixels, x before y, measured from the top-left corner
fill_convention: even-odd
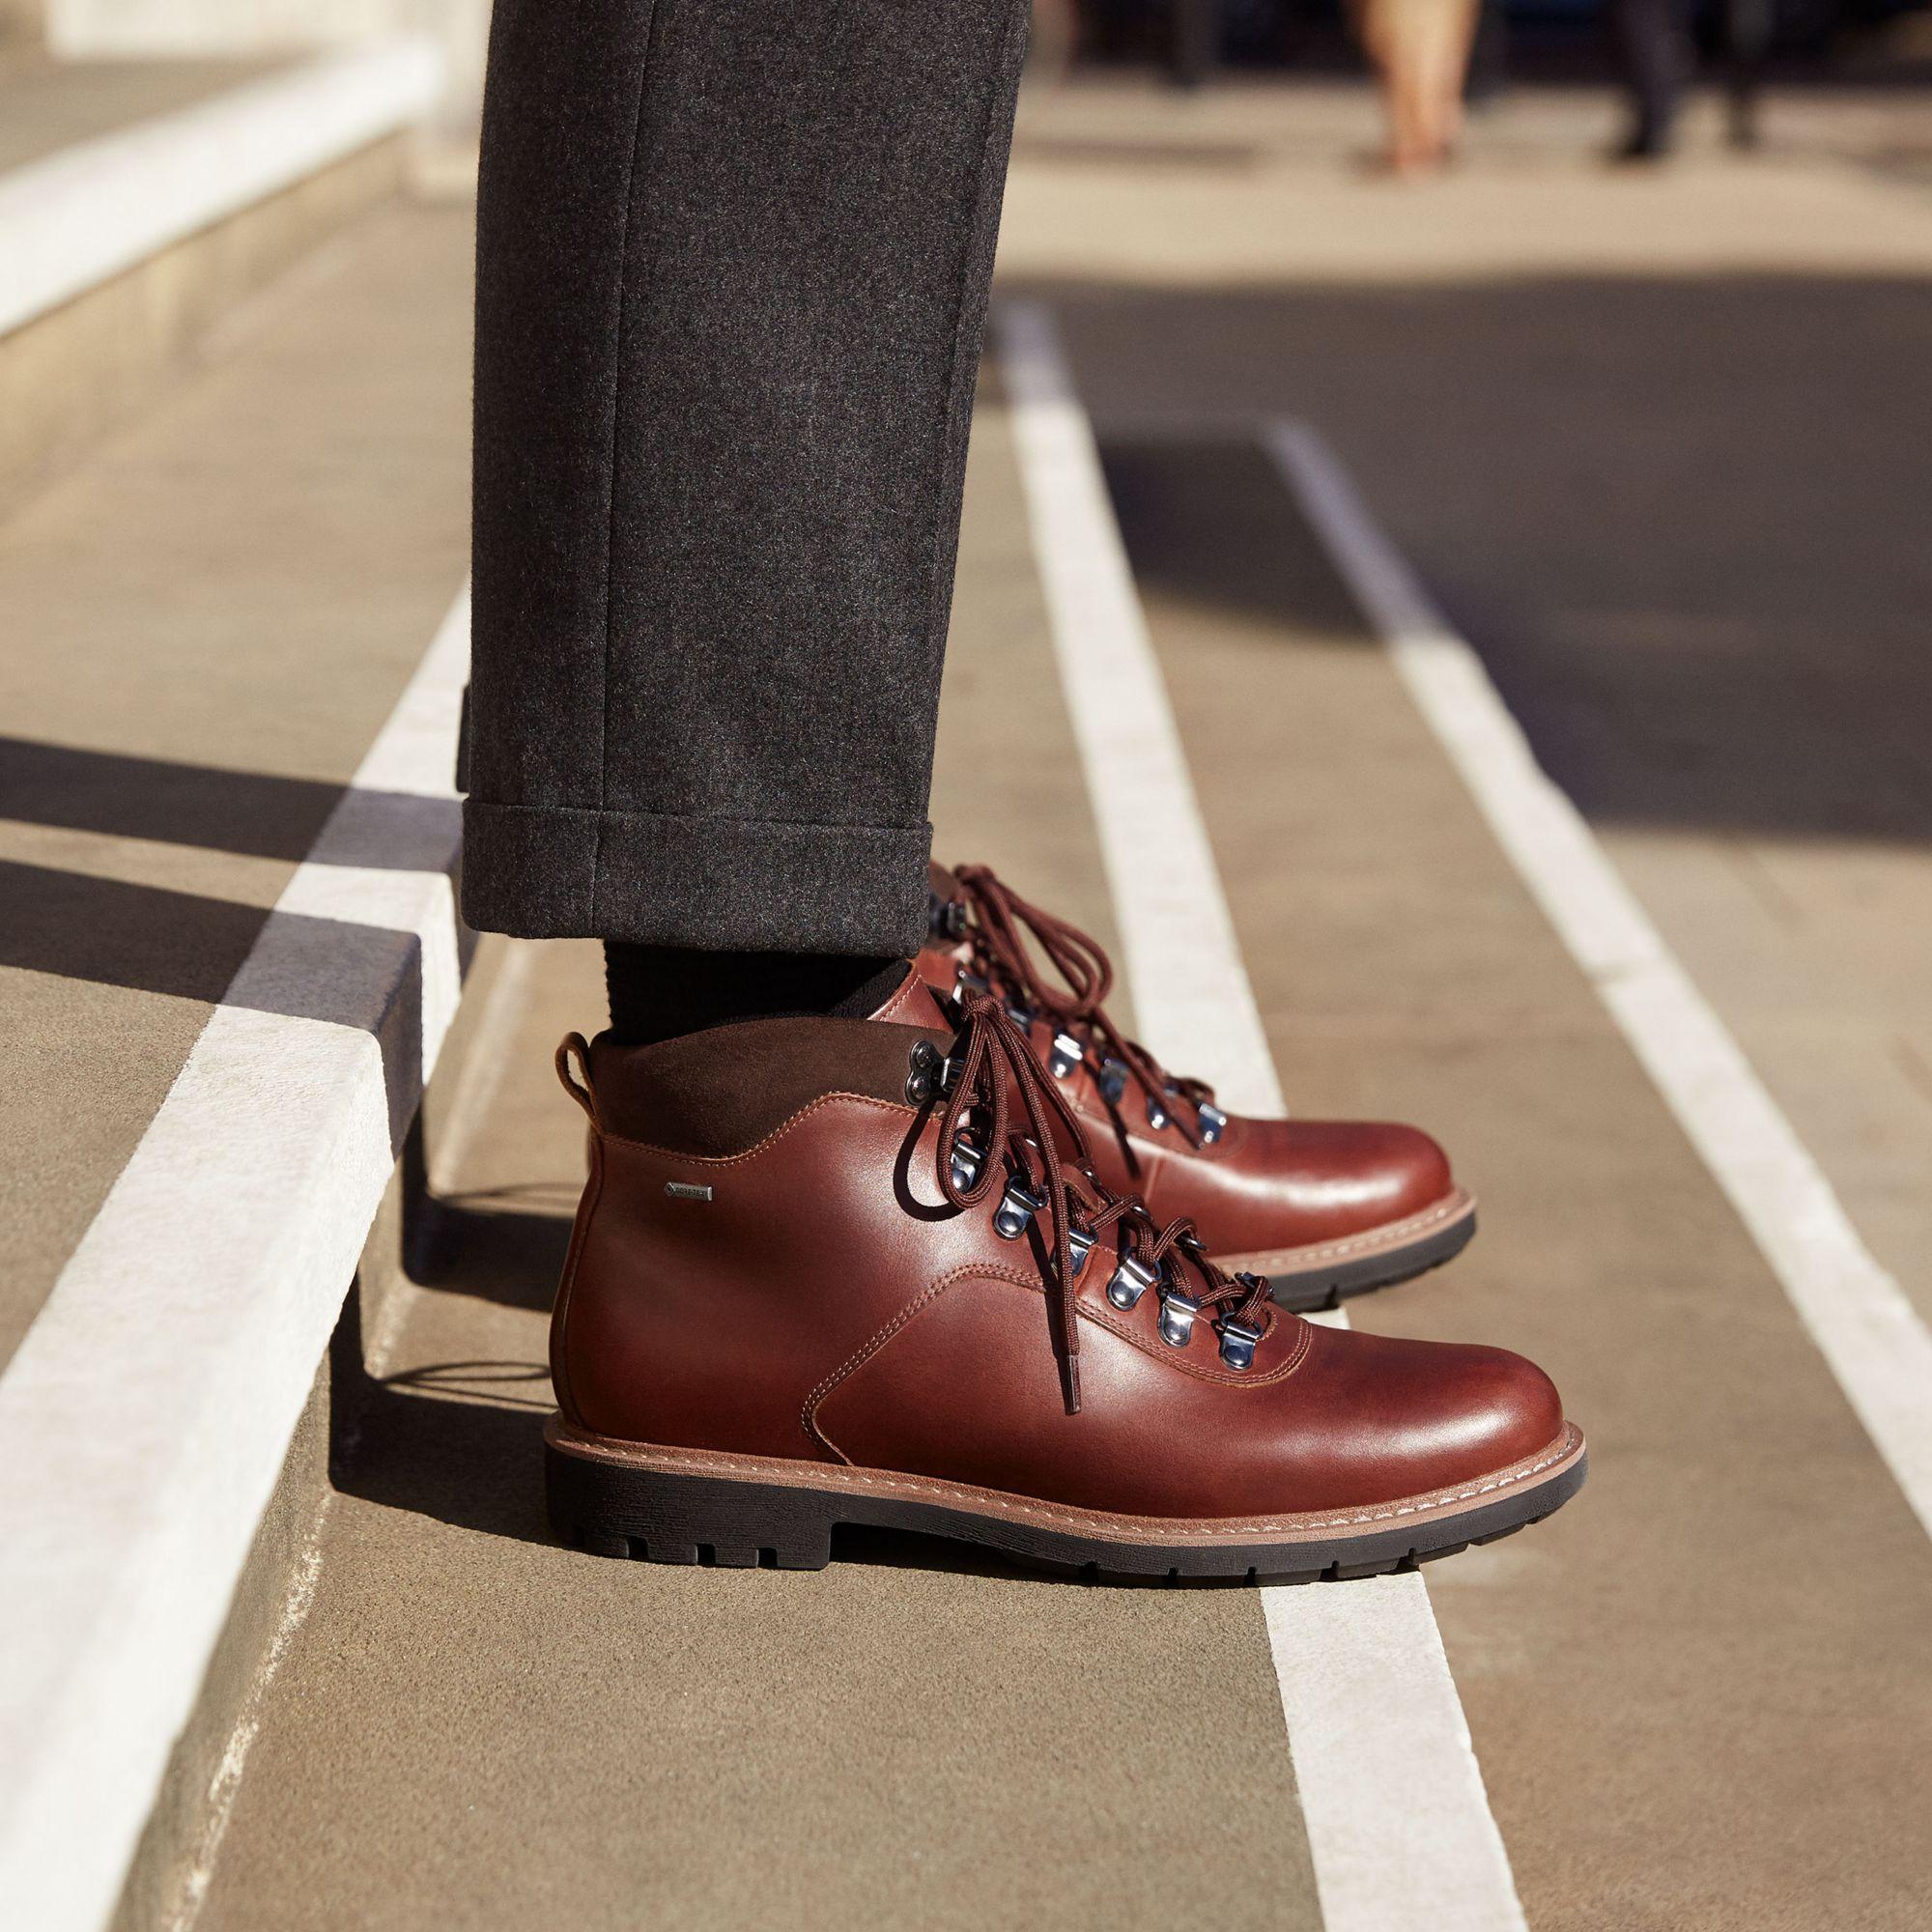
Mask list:
[[[303,62],[0,176],[0,334],[419,122],[435,41]]]

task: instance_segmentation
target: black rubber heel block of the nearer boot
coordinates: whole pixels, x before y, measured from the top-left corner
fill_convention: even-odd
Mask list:
[[[545,1490],[558,1542],[601,1557],[825,1569],[831,1499],[717,1476],[678,1476],[570,1455],[545,1443]]]

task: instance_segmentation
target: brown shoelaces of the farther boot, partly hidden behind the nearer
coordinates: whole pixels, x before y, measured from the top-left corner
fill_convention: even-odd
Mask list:
[[[1151,1109],[1171,1115],[1190,1146],[1202,1146],[1202,1109],[1213,1107],[1213,1088],[1206,1080],[1188,1080],[1165,1066],[1138,1041],[1128,1039],[1107,1018],[1107,993],[1113,991],[1113,960],[1092,933],[1020,898],[987,866],[960,866],[954,877],[966,895],[966,941],[974,949],[974,970],[989,985],[999,987],[1022,1007],[1047,1014],[1080,1041],[1084,1053],[1115,1061],[1142,1090]],[[1034,951],[1047,956],[1053,970],[1066,981],[1066,991],[1039,972]],[[1186,1101],[1194,1124],[1171,1113],[1169,1101]],[[1113,1105],[1113,1101],[1109,1101]],[[1132,1150],[1128,1150],[1132,1161]]]

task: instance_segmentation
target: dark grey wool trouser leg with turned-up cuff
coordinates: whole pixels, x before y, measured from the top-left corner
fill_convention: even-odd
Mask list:
[[[497,0],[464,916],[910,952],[1026,0]]]

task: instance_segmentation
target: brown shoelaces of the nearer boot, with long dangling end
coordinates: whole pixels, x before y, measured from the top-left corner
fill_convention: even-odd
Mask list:
[[[1012,1119],[1009,1080],[1020,1095],[1024,1130]],[[1061,1155],[1055,1128],[1074,1150],[1070,1163]],[[1010,1167],[1001,1165],[1003,1153]],[[964,1209],[1012,1182],[1022,1186],[1030,1213],[1047,1215],[1049,1289],[1059,1294],[1055,1349],[1068,1414],[1080,1412],[1076,1242],[1088,1254],[1113,1229],[1121,1260],[1138,1262],[1157,1291],[1165,1293],[1169,1283],[1180,1289],[1182,1269],[1192,1271],[1200,1293],[1188,1298],[1209,1323],[1238,1321],[1256,1339],[1273,1327],[1265,1281],[1223,1273],[1208,1258],[1192,1221],[1157,1223],[1138,1198],[1115,1194],[1094,1175],[1080,1121],[1034,1057],[1032,1041],[999,999],[974,993],[964,1003],[964,1028],[954,1043],[954,1072],[939,1119],[939,1188]]]

